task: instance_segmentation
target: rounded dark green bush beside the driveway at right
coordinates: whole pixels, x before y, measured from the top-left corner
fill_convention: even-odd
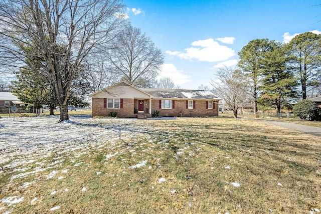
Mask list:
[[[318,107],[312,100],[302,100],[293,106],[293,114],[300,119],[319,120]]]

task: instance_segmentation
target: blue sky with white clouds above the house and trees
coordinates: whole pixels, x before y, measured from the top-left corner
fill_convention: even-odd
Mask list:
[[[321,33],[321,1],[124,0],[128,20],[162,50],[159,77],[183,89],[215,80],[222,65],[237,63],[237,53],[254,39],[288,42],[299,33]],[[209,85],[210,86],[210,85]]]

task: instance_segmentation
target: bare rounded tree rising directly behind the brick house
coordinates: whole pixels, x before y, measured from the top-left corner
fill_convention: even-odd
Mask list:
[[[164,63],[161,50],[157,49],[140,29],[129,24],[112,41],[108,53],[113,70],[134,86],[141,82],[139,79],[152,81]]]

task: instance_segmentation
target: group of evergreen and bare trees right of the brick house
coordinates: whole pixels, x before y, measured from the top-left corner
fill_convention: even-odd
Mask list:
[[[279,113],[298,100],[321,94],[321,35],[302,33],[288,44],[252,40],[238,56],[235,69],[220,69],[220,82],[212,81],[234,117],[249,103],[254,114],[268,109]]]

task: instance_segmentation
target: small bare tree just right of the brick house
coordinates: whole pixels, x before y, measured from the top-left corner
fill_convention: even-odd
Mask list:
[[[233,111],[234,118],[237,118],[237,111],[244,102],[245,91],[241,76],[232,68],[221,68],[216,74],[217,81],[211,81],[216,93],[224,99],[225,104]]]

